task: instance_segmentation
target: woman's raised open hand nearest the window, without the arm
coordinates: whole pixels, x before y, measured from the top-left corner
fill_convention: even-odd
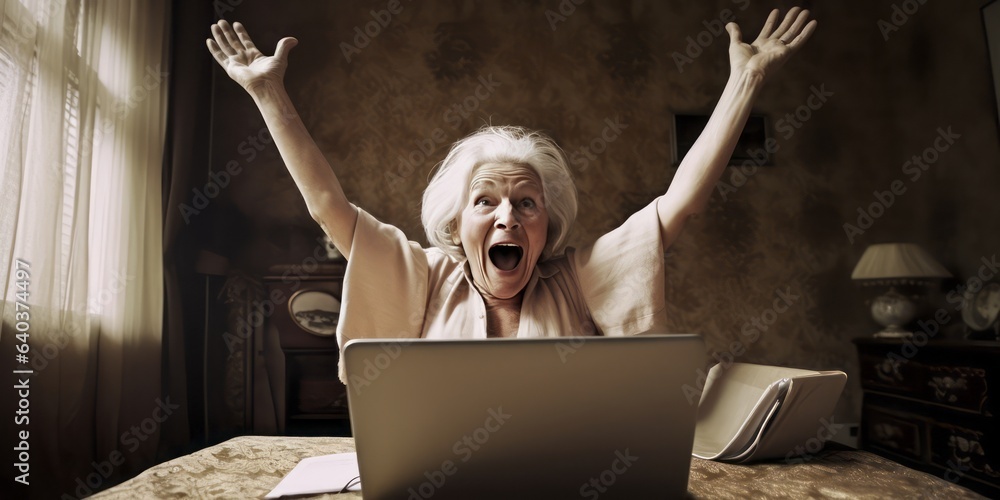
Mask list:
[[[212,37],[206,41],[209,52],[229,77],[248,91],[266,82],[280,85],[288,66],[288,52],[299,43],[291,37],[282,38],[274,55],[266,56],[253,44],[242,24],[230,25],[225,19],[212,25]]]

